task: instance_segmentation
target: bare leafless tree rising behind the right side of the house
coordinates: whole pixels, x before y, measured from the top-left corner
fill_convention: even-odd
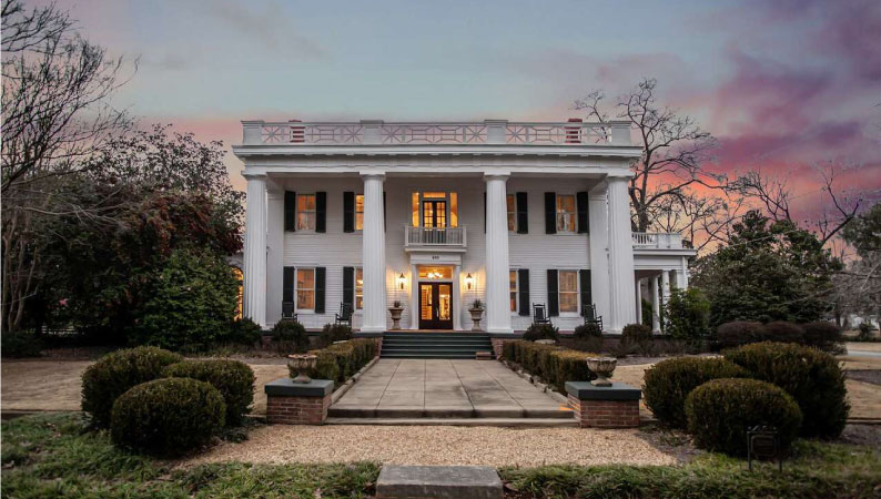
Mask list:
[[[655,79],[641,81],[631,92],[618,98],[610,111],[602,106],[601,91],[575,102],[575,109],[587,111],[589,119],[605,122],[611,114],[629,121],[638,135],[642,156],[631,166],[630,202],[635,212],[634,228],[639,232],[649,230],[652,211],[659,206],[688,204],[687,187],[717,189],[725,180],[703,169],[711,159],[716,140],[702,131],[693,118],[660,106],[655,96],[656,85]]]

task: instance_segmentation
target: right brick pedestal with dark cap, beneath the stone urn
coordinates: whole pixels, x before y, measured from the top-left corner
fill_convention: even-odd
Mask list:
[[[624,383],[598,387],[568,381],[569,406],[581,428],[636,428],[639,426],[641,390]]]

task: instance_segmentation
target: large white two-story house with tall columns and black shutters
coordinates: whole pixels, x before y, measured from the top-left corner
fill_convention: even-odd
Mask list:
[[[245,121],[244,314],[308,328],[342,303],[363,333],[523,330],[545,304],[563,330],[595,306],[607,332],[640,297],[688,284],[679,234],[632,233],[627,123]],[[659,293],[660,292],[660,293]]]

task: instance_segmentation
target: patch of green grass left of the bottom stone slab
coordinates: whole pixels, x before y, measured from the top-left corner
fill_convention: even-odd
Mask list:
[[[172,471],[169,462],[118,449],[75,413],[3,421],[2,467],[4,498],[360,498],[373,493],[379,473],[371,462]]]

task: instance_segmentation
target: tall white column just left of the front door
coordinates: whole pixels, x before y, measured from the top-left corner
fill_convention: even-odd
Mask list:
[[[361,330],[386,329],[385,308],[385,225],[383,223],[383,173],[362,173],[364,179],[364,312]]]

